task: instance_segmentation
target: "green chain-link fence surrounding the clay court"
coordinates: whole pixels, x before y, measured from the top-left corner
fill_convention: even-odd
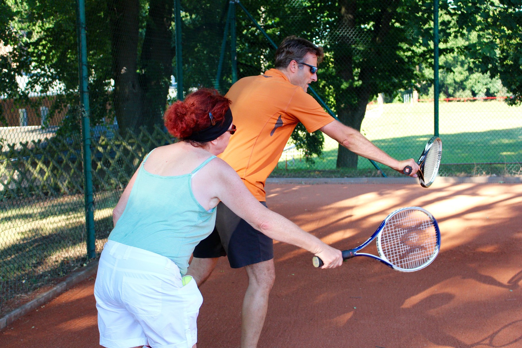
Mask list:
[[[434,85],[432,1],[79,1],[96,252],[141,159],[174,141],[168,103],[266,71],[291,34],[325,49],[313,95],[390,155],[416,158],[438,128],[441,175],[520,175],[522,5],[465,3],[440,4]],[[0,3],[0,312],[89,261],[77,13],[60,0]],[[292,139],[272,175],[382,175],[327,137],[321,148],[321,133]]]

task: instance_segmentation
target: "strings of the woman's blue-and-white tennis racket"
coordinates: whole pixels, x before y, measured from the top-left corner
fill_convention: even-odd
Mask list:
[[[434,223],[421,211],[402,211],[392,216],[378,243],[381,256],[402,269],[418,268],[437,252]]]

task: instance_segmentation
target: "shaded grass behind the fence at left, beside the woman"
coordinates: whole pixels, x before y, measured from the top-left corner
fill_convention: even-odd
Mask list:
[[[112,229],[120,191],[95,195],[96,249]],[[87,261],[84,196],[0,202],[0,313],[5,301],[69,274]]]

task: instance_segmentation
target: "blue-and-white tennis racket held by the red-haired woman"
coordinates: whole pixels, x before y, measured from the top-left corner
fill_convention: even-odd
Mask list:
[[[379,256],[358,252],[377,238]],[[343,250],[343,260],[367,256],[379,260],[394,270],[418,271],[429,265],[441,248],[441,233],[435,218],[423,208],[400,208],[389,214],[375,233],[357,248]],[[323,261],[313,257],[315,267]]]

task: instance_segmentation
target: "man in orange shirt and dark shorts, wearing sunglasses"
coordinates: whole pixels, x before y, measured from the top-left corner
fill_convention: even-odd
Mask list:
[[[309,132],[321,130],[352,152],[378,161],[399,172],[419,166],[413,159],[398,161],[373,145],[360,132],[327,114],[306,93],[317,81],[317,64],[323,49],[295,36],[282,41],[276,51],[275,68],[265,74],[240,79],[228,91],[238,132],[219,156],[238,172],[246,187],[265,204],[265,181],[276,167],[295,126],[301,122]],[[228,256],[232,268],[245,267],[248,288],[243,300],[241,348],[257,346],[274,284],[272,240],[235,216],[220,203],[216,229],[194,250],[188,273],[203,283],[220,256]]]

